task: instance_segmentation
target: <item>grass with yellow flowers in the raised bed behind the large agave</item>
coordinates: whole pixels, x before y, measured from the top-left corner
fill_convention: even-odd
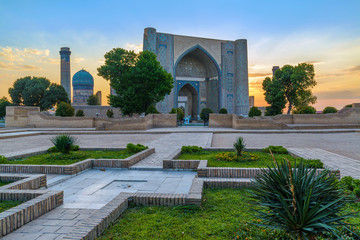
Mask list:
[[[259,157],[256,161],[243,161],[243,162],[227,162],[219,161],[216,159],[216,154],[224,151],[202,151],[199,153],[182,153],[178,159],[182,160],[208,160],[208,167],[243,167],[243,168],[259,168],[273,166],[274,161],[269,153],[264,152],[250,152]],[[283,161],[284,158],[290,160],[291,164],[295,164],[295,157],[289,154],[274,154],[277,161]]]

